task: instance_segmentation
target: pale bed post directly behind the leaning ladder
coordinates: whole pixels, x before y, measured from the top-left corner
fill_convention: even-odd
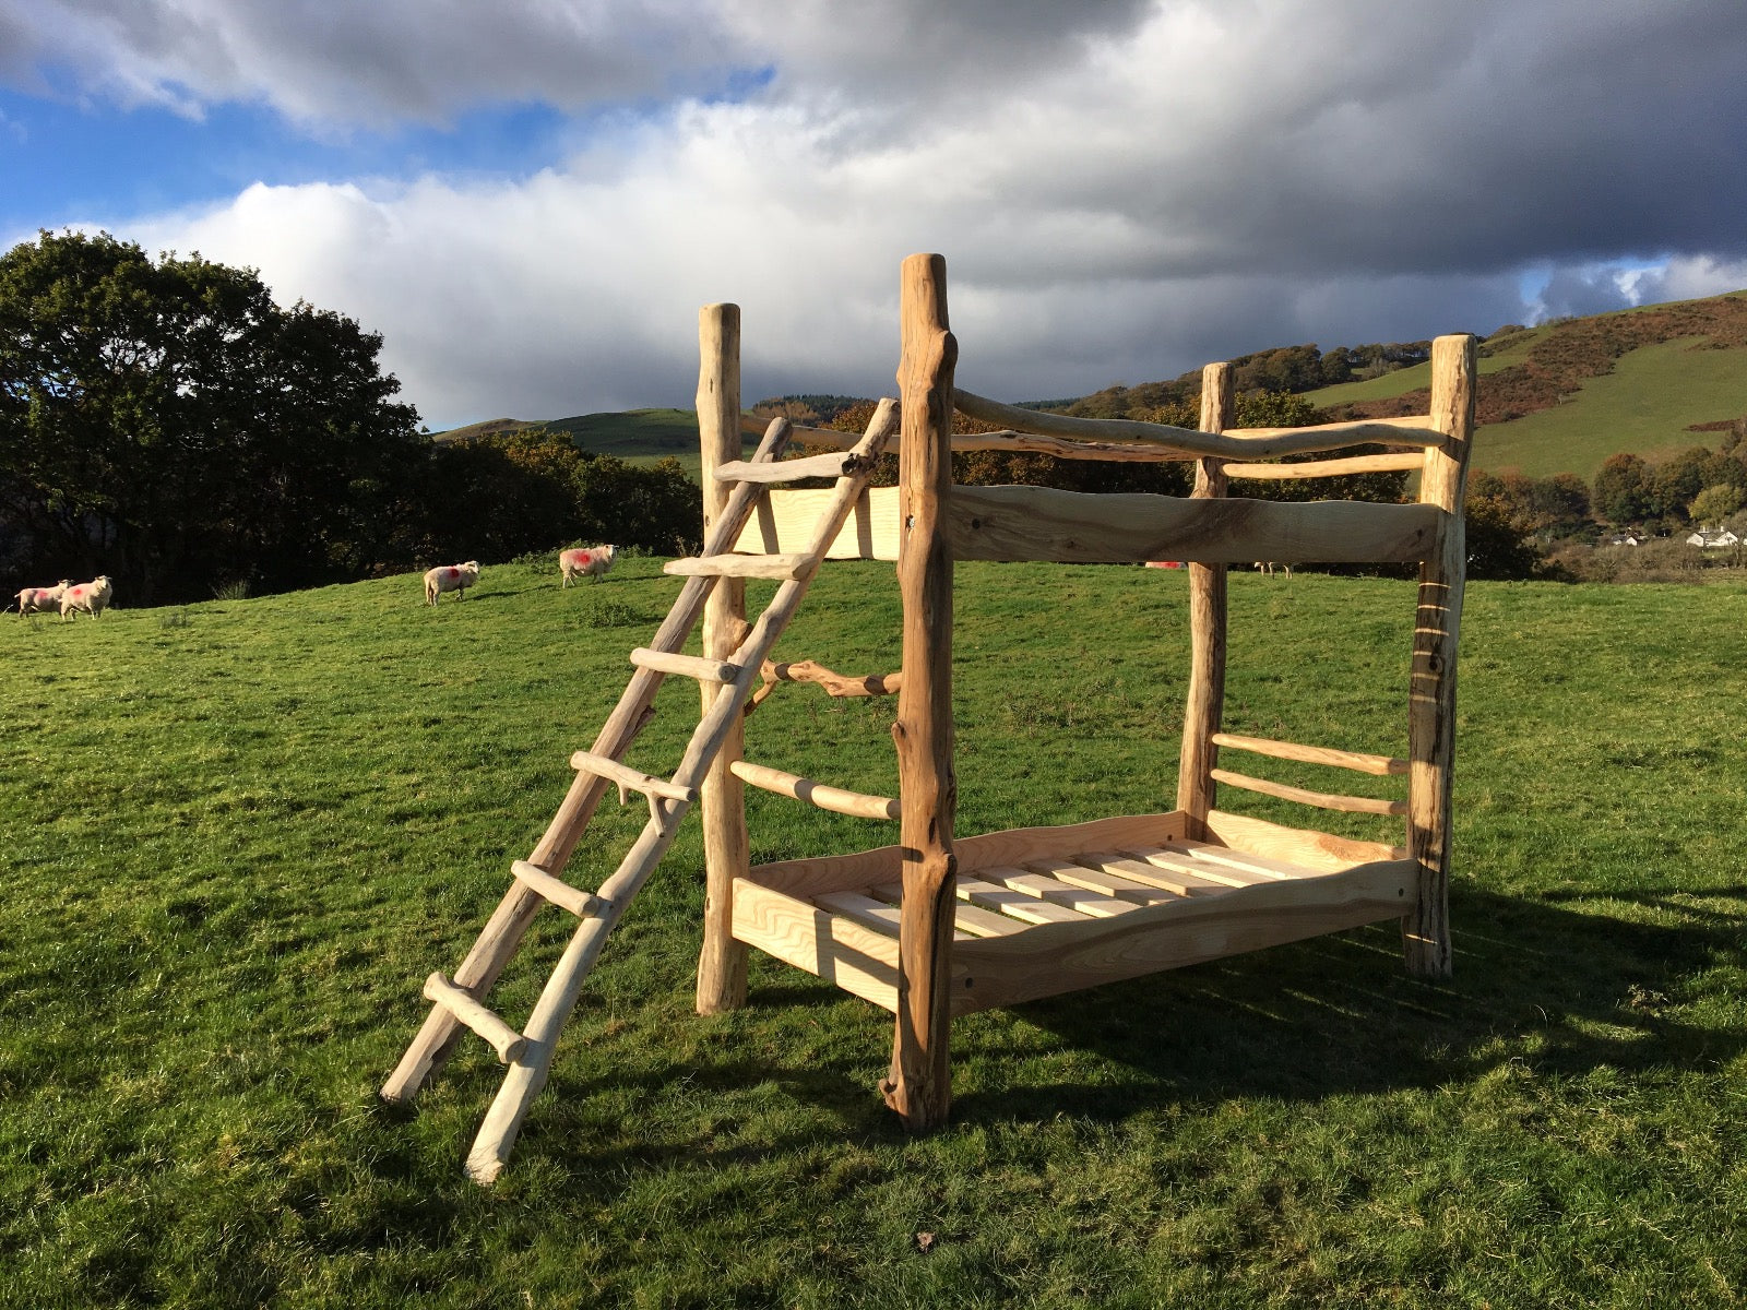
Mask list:
[[[727,508],[732,487],[713,475],[741,458],[741,307],[706,304],[697,311],[697,437],[704,466],[704,538]],[[746,639],[746,582],[718,578],[704,603],[704,657],[728,660]],[[723,688],[702,683],[704,713]],[[746,945],[734,940],[734,879],[751,865],[746,840],[746,788],[728,767],[746,748],[735,720],[699,788],[704,819],[704,948],[697,961],[697,1013],[746,1004]]]

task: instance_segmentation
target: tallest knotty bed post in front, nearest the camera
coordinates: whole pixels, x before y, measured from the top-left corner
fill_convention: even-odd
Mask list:
[[[891,735],[901,788],[903,919],[898,1032],[880,1086],[908,1128],[943,1123],[952,1104],[952,555],[942,531],[952,493],[952,372],[947,262],[910,255],[901,274],[903,396],[898,583],[903,592],[903,688]]]

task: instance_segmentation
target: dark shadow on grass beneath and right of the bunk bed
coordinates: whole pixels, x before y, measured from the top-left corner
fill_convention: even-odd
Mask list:
[[[1137,1078],[971,1092],[954,1114],[1120,1120],[1165,1100],[1433,1088],[1508,1060],[1560,1074],[1716,1069],[1747,1050],[1747,1029],[1681,1018],[1703,996],[1700,975],[1747,964],[1740,910],[1667,893],[1611,898],[1688,919],[1646,924],[1558,900],[1579,898],[1455,896],[1448,983],[1410,978],[1398,929],[1380,924],[1032,1003],[1015,1013]],[[956,1053],[999,1058],[975,1038]]]

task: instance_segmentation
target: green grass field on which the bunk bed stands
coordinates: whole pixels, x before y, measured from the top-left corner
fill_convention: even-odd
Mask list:
[[[0,1305],[1740,1303],[1738,583],[1471,587],[1448,985],[1378,927],[973,1015],[952,1125],[910,1139],[882,1011],[755,959],[749,1008],[690,1013],[694,821],[468,1184],[484,1045],[411,1111],[376,1086],[666,613],[659,564],[0,627]],[[959,578],[959,831],[1169,796],[1183,578]],[[894,592],[833,564],[779,653],[894,667]],[[1233,730],[1401,749],[1406,583],[1232,592]],[[671,767],[695,709],[664,692],[631,762]],[[749,753],[889,793],[891,714],[784,686]],[[891,840],[749,803],[755,859]],[[573,880],[639,821],[604,809]]]

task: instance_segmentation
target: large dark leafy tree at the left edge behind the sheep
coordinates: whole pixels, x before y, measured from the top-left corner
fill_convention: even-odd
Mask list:
[[[381,337],[199,255],[42,232],[0,257],[0,510],[44,576],[129,601],[355,575],[430,442]]]

